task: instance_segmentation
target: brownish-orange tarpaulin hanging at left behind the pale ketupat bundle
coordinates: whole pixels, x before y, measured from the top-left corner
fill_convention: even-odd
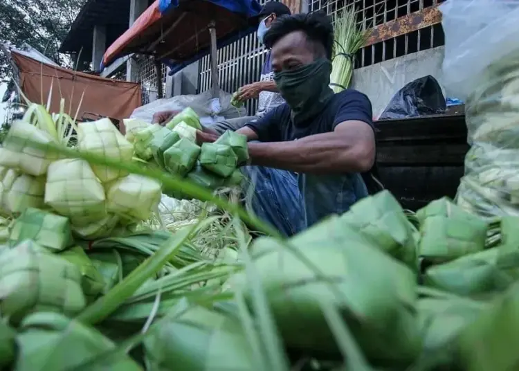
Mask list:
[[[122,120],[142,104],[138,83],[42,64],[15,51],[11,51],[11,57],[19,69],[21,91],[30,102],[46,105],[52,84],[51,112],[60,111],[60,99],[64,98],[65,113],[72,117],[81,103],[78,120],[86,113]]]

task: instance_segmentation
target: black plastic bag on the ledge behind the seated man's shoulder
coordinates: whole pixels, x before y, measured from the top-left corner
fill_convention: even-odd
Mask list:
[[[406,84],[390,100],[379,120],[443,114],[446,109],[441,87],[431,75]]]

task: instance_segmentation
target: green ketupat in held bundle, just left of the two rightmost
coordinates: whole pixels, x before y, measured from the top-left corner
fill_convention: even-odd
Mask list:
[[[188,139],[182,138],[164,152],[164,164],[167,171],[183,177],[197,163],[200,147]]]

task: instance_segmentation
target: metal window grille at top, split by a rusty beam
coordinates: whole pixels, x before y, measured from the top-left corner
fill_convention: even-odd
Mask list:
[[[336,17],[345,6],[354,6],[357,26],[361,30],[385,24],[413,12],[435,6],[444,0],[311,0],[310,11],[325,10]],[[421,28],[412,33],[392,37],[361,48],[355,58],[355,68],[391,60],[444,45],[441,24]]]

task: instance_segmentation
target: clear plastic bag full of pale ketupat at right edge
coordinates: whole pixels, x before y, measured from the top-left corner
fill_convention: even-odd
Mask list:
[[[448,0],[444,83],[466,102],[471,149],[456,195],[482,217],[519,215],[519,0]]]

